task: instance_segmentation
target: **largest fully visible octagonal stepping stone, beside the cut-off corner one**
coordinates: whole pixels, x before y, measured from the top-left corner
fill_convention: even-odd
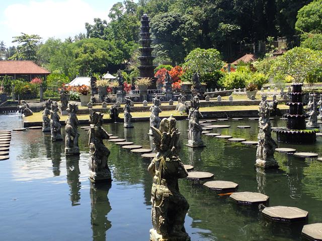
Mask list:
[[[263,215],[275,222],[298,222],[305,221],[308,212],[297,207],[274,206],[266,207]]]

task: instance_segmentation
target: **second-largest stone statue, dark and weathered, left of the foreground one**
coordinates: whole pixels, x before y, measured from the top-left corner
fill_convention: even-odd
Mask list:
[[[94,112],[90,109],[90,180],[92,182],[112,181],[111,171],[107,165],[110,155],[109,149],[103,140],[110,138],[109,134],[102,128],[104,114]]]

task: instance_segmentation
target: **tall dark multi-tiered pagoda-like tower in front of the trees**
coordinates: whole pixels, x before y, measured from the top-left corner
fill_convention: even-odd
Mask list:
[[[153,66],[153,59],[152,56],[152,50],[151,43],[152,40],[150,38],[150,21],[146,14],[144,14],[141,18],[141,39],[140,43],[142,45],[141,48],[139,48],[139,51],[141,52],[141,56],[138,57],[140,60],[141,65],[138,66],[140,70],[140,78],[143,77],[149,77],[152,78],[152,85],[150,86],[151,89],[156,88],[156,80],[154,78],[154,69],[156,66]]]

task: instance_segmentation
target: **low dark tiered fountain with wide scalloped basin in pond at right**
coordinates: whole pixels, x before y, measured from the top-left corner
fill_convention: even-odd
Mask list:
[[[303,109],[302,83],[293,83],[293,90],[290,92],[290,102],[286,104],[290,107],[287,117],[286,128],[277,128],[274,130],[279,142],[292,144],[309,144],[316,141],[318,129],[306,128],[305,119],[309,117]]]

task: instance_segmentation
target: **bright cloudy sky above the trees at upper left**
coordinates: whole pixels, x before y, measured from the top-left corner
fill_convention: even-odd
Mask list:
[[[0,41],[9,47],[21,33],[38,34],[43,42],[86,33],[85,23],[108,20],[117,2],[122,0],[0,0]]]

